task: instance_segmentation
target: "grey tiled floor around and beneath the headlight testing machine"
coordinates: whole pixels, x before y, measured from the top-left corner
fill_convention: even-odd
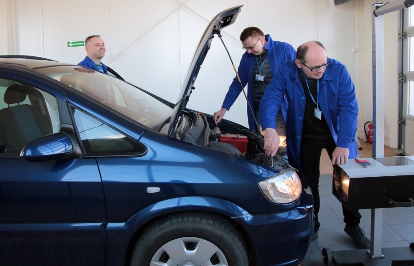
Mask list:
[[[361,156],[361,158],[372,157],[372,150],[369,150],[370,146],[367,145],[370,144],[362,143],[363,152],[368,152],[368,154]],[[390,150],[388,150],[388,155],[387,152],[384,153],[385,156],[395,156],[392,154],[392,149]],[[369,152],[371,153],[369,154]],[[324,156],[327,157],[328,155],[322,154],[321,161],[326,161]],[[357,249],[352,239],[344,232],[345,223],[343,222],[342,205],[332,195],[332,174],[324,173],[322,168],[319,190],[321,197],[319,221],[321,227],[318,238],[311,241],[302,266],[325,266],[322,258],[323,248],[328,248],[331,251]],[[365,231],[365,236],[370,239],[371,210],[360,210],[360,213],[362,215],[360,226]],[[414,242],[414,207],[382,209],[381,248],[409,247],[411,242]]]

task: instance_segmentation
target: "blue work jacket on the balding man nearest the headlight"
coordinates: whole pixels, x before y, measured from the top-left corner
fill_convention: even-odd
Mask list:
[[[358,123],[358,101],[355,86],[346,67],[329,59],[330,64],[319,80],[319,108],[325,116],[337,147],[348,148],[349,158],[358,154],[355,134]],[[306,96],[294,60],[280,66],[260,101],[259,121],[263,127],[276,128],[275,114],[283,102],[289,102],[286,119],[286,143],[291,166],[300,169],[300,143]]]

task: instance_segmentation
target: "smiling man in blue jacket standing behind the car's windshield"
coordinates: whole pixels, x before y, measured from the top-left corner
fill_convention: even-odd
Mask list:
[[[107,73],[108,67],[101,62],[106,52],[105,43],[101,35],[88,36],[85,39],[85,50],[86,57],[78,65]]]

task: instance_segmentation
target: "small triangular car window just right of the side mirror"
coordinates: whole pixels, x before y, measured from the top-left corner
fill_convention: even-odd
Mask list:
[[[73,109],[73,116],[86,155],[137,155],[146,151],[138,141],[79,109]]]

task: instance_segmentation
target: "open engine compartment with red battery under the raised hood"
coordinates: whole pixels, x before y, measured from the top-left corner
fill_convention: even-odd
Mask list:
[[[216,127],[212,116],[193,111],[183,112],[174,137],[212,150],[244,157],[280,171],[290,167],[279,155],[267,156],[263,137],[236,123],[223,119]]]

